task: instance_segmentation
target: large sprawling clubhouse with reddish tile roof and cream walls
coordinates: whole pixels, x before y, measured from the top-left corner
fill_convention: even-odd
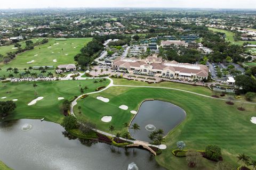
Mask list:
[[[154,74],[157,77],[170,79],[203,80],[208,78],[209,69],[205,65],[178,63],[176,61],[164,61],[156,55],[144,59],[116,58],[112,68],[129,73],[140,72],[141,74]]]

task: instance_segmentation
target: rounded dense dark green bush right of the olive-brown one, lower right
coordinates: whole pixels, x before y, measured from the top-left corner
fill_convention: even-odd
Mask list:
[[[218,162],[221,158],[221,149],[216,145],[208,145],[205,148],[205,156],[207,159]]]

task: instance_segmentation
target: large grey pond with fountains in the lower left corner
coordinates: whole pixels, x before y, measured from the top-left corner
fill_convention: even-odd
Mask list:
[[[40,120],[0,123],[0,160],[13,169],[164,169],[147,150],[69,140],[59,124]],[[131,164],[133,166],[133,164]]]

